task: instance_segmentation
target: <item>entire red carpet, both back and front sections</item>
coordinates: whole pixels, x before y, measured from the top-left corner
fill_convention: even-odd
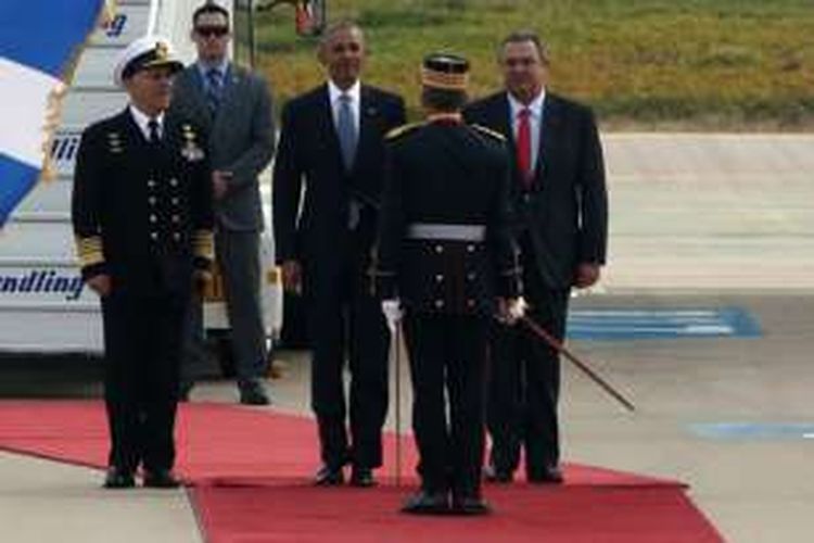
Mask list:
[[[222,404],[183,405],[178,472],[190,483],[211,543],[274,541],[720,542],[673,481],[567,465],[567,484],[487,487],[496,514],[418,519],[396,512],[408,489],[317,489],[309,418]],[[391,438],[392,440],[392,438]],[[405,473],[415,452],[404,440]],[[107,437],[99,402],[0,402],[0,449],[103,467]],[[382,477],[394,475],[392,441]]]

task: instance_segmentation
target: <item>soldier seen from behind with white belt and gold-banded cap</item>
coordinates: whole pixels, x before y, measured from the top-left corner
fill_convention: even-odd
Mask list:
[[[427,122],[389,135],[376,273],[389,323],[404,311],[410,358],[421,490],[406,513],[488,512],[480,485],[488,321],[520,289],[509,159],[501,136],[462,123],[468,75],[462,58],[428,56]]]

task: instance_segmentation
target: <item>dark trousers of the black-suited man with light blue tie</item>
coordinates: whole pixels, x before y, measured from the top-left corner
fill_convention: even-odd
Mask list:
[[[344,263],[305,264],[311,407],[326,465],[339,468],[352,462],[376,468],[382,465],[387,415],[390,332],[380,303],[370,293],[369,251],[354,235],[348,238]],[[349,394],[345,394],[345,359]]]

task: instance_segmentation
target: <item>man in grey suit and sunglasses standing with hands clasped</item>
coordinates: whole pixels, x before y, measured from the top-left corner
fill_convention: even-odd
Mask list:
[[[271,160],[275,127],[266,83],[227,58],[229,12],[206,2],[192,14],[198,62],[175,81],[173,109],[208,134],[215,198],[215,249],[231,328],[240,401],[269,403],[264,384],[268,363],[260,305],[260,231],[264,227],[258,174]],[[204,354],[203,312],[193,300],[185,333],[181,395],[189,394],[194,366]]]

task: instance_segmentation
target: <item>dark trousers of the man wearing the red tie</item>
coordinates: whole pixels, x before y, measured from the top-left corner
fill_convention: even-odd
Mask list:
[[[527,316],[562,341],[570,290],[546,287],[527,240],[521,249],[524,296],[531,306]],[[495,321],[489,336],[491,462],[501,471],[514,471],[524,445],[526,472],[534,476],[560,460],[559,353],[522,325]]]

